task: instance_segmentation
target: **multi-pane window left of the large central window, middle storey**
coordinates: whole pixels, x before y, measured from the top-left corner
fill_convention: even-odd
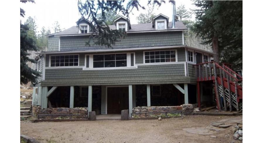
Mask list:
[[[78,55],[51,56],[51,67],[78,66]]]

